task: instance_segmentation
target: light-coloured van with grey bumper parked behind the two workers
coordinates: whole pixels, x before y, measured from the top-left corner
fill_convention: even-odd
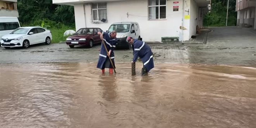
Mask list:
[[[126,38],[131,36],[134,39],[142,40],[140,36],[140,26],[137,22],[116,22],[111,24],[108,32],[116,31],[118,40],[117,48],[131,48],[131,45],[126,42]]]

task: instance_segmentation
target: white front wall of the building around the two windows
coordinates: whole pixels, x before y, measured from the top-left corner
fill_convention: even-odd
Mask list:
[[[148,20],[148,6],[147,0],[126,0],[117,2],[107,2],[107,23],[95,24],[92,22],[91,5],[74,5],[76,15],[76,30],[83,27],[99,27],[106,31],[114,22],[134,21],[138,22],[141,31],[141,37],[145,41],[161,41],[163,36],[178,36],[182,39],[182,0],[175,0],[179,2],[179,10],[173,11],[173,0],[166,1],[166,19]],[[184,4],[184,10],[190,9],[190,1]],[[193,10],[193,18],[195,17],[196,9]],[[130,14],[127,17],[127,13]],[[85,14],[84,14],[85,13]],[[184,11],[184,15],[187,12]],[[135,15],[135,16],[132,16]],[[194,22],[194,21],[193,21]],[[184,19],[183,26],[183,40],[189,40],[190,35],[190,20]],[[195,24],[195,23],[194,23]],[[194,26],[194,30],[196,25]],[[192,33],[192,31],[191,31]]]

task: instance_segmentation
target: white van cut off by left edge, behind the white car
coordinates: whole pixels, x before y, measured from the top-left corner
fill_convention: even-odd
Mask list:
[[[0,17],[0,38],[21,27],[17,17]]]

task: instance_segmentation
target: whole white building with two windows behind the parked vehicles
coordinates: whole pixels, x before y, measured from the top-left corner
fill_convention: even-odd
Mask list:
[[[161,37],[189,40],[202,27],[210,0],[53,0],[73,5],[76,30],[99,27],[106,31],[114,22],[138,22],[144,41],[161,42]],[[107,22],[101,22],[107,19]],[[185,29],[182,30],[181,26]]]

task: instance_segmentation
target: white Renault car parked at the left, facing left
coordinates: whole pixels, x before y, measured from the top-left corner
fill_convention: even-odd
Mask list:
[[[52,40],[51,31],[41,27],[21,27],[12,31],[10,34],[2,36],[0,43],[2,47],[23,47],[37,43],[49,45]]]

